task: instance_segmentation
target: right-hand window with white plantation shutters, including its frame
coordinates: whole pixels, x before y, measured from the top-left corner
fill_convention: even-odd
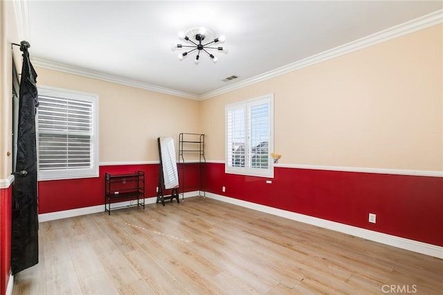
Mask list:
[[[273,95],[226,106],[225,172],[273,177]]]

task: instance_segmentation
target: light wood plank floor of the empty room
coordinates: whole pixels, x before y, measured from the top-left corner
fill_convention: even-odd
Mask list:
[[[13,294],[443,292],[438,258],[200,197],[44,222],[39,243]]]

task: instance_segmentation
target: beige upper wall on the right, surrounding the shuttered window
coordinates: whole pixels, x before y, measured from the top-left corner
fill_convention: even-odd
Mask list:
[[[274,93],[280,163],[443,170],[442,25],[201,102],[207,159],[224,160],[224,107]]]

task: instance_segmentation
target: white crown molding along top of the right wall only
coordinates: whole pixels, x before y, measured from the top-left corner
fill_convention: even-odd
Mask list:
[[[410,21],[406,21],[403,24],[399,24],[397,26],[393,26],[386,30],[381,30],[378,33],[374,33],[372,35],[368,35],[361,39],[356,39],[347,44],[343,44],[341,46],[337,46],[335,48],[329,49],[327,51],[323,51],[322,53],[318,53],[316,55],[312,55],[303,60],[299,60],[297,62],[293,62],[291,64],[287,64],[286,66],[281,66],[278,69],[274,69],[272,71],[268,71],[266,73],[262,73],[260,75],[256,75],[253,78],[249,78],[243,80],[241,82],[237,82],[235,84],[230,84],[229,86],[222,87],[215,91],[210,91],[208,93],[204,93],[199,96],[200,100],[204,100],[207,98],[212,98],[214,96],[219,96],[223,93],[227,93],[229,91],[233,91],[235,89],[239,89],[242,87],[249,86],[251,84],[255,84],[257,82],[262,82],[264,80],[268,80],[271,78],[275,78],[279,75],[283,75],[285,73],[289,73],[291,71],[296,71],[298,69],[305,68],[307,66],[311,66],[313,64],[318,64],[320,62],[325,62],[326,60],[331,60],[332,58],[345,55],[347,53],[352,53],[354,51],[358,51],[360,49],[373,46],[375,44],[379,44],[382,42],[386,42],[390,39],[394,39],[397,37],[401,37],[403,35],[407,35],[417,30],[422,30],[424,28],[428,28],[430,26],[435,26],[436,24],[441,24],[443,21],[443,10],[437,10],[436,12],[432,12],[428,15],[424,15],[423,17],[419,17],[417,19],[413,19]]]

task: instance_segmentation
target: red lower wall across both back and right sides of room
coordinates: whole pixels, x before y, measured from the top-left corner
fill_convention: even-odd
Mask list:
[[[198,188],[197,168],[186,167],[186,191]],[[146,197],[155,197],[159,165],[102,166],[98,178],[39,181],[39,213],[104,204],[105,172],[136,170],[145,171]],[[275,168],[266,184],[226,174],[222,163],[208,163],[206,172],[210,193],[443,246],[442,177]],[[369,213],[377,214],[376,224]]]

